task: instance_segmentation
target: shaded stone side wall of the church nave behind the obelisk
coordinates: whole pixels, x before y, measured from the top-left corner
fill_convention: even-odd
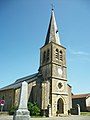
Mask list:
[[[28,100],[31,102],[36,102],[38,106],[41,107],[41,87],[36,80],[28,84]],[[4,98],[5,106],[4,110],[9,111],[11,107],[15,104],[18,106],[20,98],[20,88],[8,89],[0,91],[0,100]]]

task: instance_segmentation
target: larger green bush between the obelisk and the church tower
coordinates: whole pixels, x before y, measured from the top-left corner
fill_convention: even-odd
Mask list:
[[[31,116],[39,116],[40,115],[40,108],[37,106],[36,103],[28,102],[28,110],[30,111]]]

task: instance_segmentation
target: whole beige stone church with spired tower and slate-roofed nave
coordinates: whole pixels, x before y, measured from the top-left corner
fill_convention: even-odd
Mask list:
[[[67,115],[72,108],[71,89],[67,80],[66,48],[61,45],[56,25],[54,9],[44,45],[40,48],[38,72],[17,79],[13,84],[0,89],[0,100],[5,100],[4,110],[19,103],[20,88],[23,81],[28,83],[28,101],[35,102],[46,115],[51,106],[51,115]]]

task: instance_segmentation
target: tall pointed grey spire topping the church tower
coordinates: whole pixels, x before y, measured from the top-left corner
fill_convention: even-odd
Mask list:
[[[60,38],[59,38],[59,33],[56,25],[54,9],[52,9],[45,45],[47,45],[51,41],[60,45]]]

